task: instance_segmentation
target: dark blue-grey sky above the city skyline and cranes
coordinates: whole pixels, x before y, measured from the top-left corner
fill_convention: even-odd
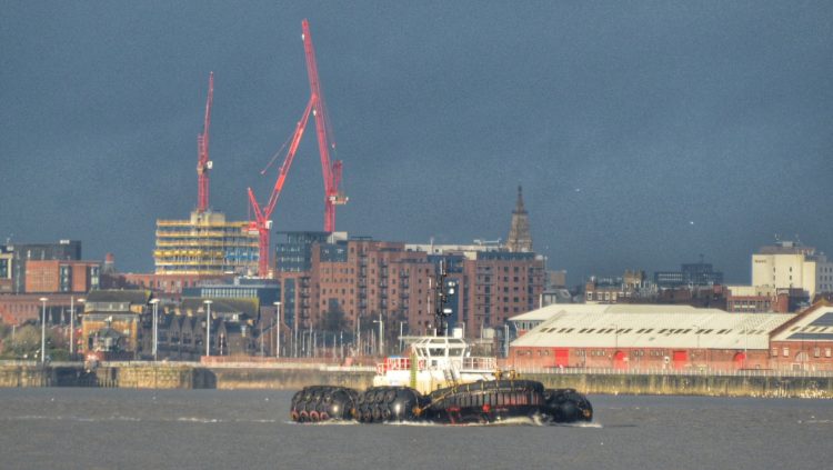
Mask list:
[[[379,239],[504,239],[523,184],[549,266],[749,282],[775,233],[833,250],[833,2],[0,1],[0,238],[151,271],[154,223],[245,189],[309,97],[309,18],[350,203]],[[274,212],[320,230],[313,127]],[[277,168],[277,167],[274,167]]]

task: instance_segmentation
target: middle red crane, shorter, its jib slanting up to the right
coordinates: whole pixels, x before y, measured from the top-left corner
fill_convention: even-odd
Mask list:
[[[269,197],[269,202],[267,202],[263,209],[261,209],[258,200],[254,198],[252,189],[249,188],[249,202],[254,212],[254,220],[249,222],[249,231],[258,232],[258,236],[260,237],[258,243],[260,249],[258,276],[261,278],[271,278],[271,273],[269,272],[269,232],[272,229],[272,221],[269,220],[269,218],[272,217],[274,204],[278,203],[278,198],[281,197],[283,183],[287,181],[287,174],[289,173],[289,168],[292,166],[292,160],[295,158],[298,144],[301,143],[301,137],[303,137],[307,122],[310,120],[310,112],[312,112],[314,101],[315,98],[310,97],[310,102],[307,103],[307,109],[303,111],[301,120],[298,121],[298,124],[295,126],[295,132],[292,134],[287,157],[283,159],[281,170],[278,172],[278,180],[274,182],[274,188],[272,188],[272,196]],[[263,171],[265,171],[265,169]]]

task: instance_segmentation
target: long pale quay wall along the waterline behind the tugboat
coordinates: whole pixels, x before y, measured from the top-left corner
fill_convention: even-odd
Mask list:
[[[199,362],[104,362],[87,371],[80,363],[0,364],[0,387],[112,387],[130,389],[299,390],[311,384],[364,389],[370,367]],[[732,374],[656,371],[521,372],[548,388],[573,388],[589,394],[676,394],[705,397],[833,399],[833,374],[749,371]]]

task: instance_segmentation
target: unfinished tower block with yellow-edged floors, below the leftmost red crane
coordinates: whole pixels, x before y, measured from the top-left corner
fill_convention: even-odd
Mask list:
[[[157,220],[157,274],[251,274],[258,270],[258,234],[248,222],[225,214],[193,211],[189,220]]]

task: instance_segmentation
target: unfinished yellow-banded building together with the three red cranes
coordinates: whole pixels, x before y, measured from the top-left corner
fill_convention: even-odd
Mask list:
[[[340,190],[342,162],[330,159],[330,152],[335,149],[335,141],[332,137],[333,132],[319,80],[309,22],[303,20],[301,28],[310,97],[294,131],[261,171],[261,174],[265,174],[278,159],[283,158],[271,193],[264,203],[260,203],[254,191],[251,188],[248,189],[250,214],[248,221],[227,221],[224,213],[211,208],[209,181],[213,163],[209,158],[209,131],[214,93],[214,74],[211,72],[203,130],[197,137],[197,207],[189,219],[157,220],[157,241],[153,251],[155,274],[209,278],[242,274],[264,279],[274,277],[274,266],[270,257],[271,217],[281,197],[310,116],[315,121],[315,136],[324,182],[323,230],[335,231],[335,207],[348,201]]]

